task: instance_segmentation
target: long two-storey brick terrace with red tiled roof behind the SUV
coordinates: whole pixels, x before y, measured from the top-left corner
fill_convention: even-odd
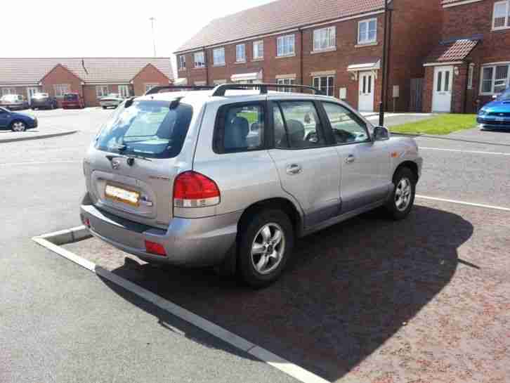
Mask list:
[[[388,15],[384,0],[274,1],[210,22],[176,51],[178,77],[190,85],[310,84],[378,110],[388,17],[388,110],[421,110],[411,83],[424,77],[423,58],[440,39],[439,1],[393,0]]]

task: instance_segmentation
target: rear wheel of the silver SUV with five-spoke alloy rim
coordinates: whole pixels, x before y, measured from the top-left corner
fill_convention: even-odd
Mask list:
[[[267,209],[244,224],[238,241],[237,275],[260,289],[280,277],[294,249],[294,230],[287,214]]]

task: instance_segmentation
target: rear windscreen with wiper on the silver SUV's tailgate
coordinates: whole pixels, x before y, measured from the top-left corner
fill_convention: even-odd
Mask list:
[[[176,157],[188,134],[192,107],[169,101],[135,101],[122,106],[101,130],[96,149],[152,158]]]

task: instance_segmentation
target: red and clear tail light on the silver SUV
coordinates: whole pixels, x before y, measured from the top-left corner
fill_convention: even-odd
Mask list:
[[[220,203],[216,182],[196,171],[185,171],[174,181],[174,207],[209,207]]]

